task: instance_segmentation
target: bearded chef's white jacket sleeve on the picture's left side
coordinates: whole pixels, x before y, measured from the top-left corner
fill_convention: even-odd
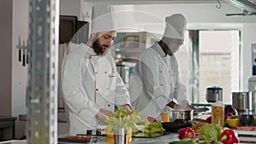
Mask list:
[[[100,107],[91,101],[82,86],[81,66],[82,58],[73,53],[66,56],[62,64],[61,82],[64,101],[71,111],[79,113],[83,109],[90,109],[98,113]]]

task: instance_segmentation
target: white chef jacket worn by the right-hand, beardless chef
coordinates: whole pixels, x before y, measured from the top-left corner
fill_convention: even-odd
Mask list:
[[[159,43],[145,49],[139,57],[131,78],[131,106],[148,116],[160,120],[160,113],[170,101],[187,100],[185,87],[178,78],[178,65],[174,55],[166,55]]]

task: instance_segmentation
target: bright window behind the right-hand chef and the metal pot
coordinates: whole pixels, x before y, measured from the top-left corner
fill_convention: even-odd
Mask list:
[[[207,103],[207,87],[216,85],[223,88],[224,103],[232,103],[232,92],[240,88],[239,44],[238,30],[187,32],[176,56],[189,101]]]

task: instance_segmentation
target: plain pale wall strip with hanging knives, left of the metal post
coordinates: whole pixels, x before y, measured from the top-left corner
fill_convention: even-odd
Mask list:
[[[28,38],[28,0],[13,1],[13,51],[12,51],[12,116],[26,113],[26,83],[28,66],[19,61],[16,45]]]

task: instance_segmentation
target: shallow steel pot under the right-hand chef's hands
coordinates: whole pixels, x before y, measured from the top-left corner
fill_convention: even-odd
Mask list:
[[[189,121],[193,119],[193,110],[172,110],[170,112],[170,120],[185,120]]]

